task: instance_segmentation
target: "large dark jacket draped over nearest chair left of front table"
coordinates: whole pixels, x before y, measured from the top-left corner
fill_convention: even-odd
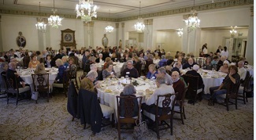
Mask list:
[[[98,103],[98,97],[95,92],[90,92],[80,88],[78,96],[78,115],[81,124],[91,124],[91,131],[101,131],[102,108]]]

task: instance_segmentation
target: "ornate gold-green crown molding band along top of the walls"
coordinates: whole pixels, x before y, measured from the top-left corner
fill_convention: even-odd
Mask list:
[[[229,7],[236,7],[241,5],[253,5],[254,0],[228,0],[223,2],[214,2],[204,5],[195,5],[196,11],[206,11],[212,9],[223,9]],[[140,17],[143,19],[153,18],[157,16],[169,16],[169,15],[176,15],[176,14],[184,14],[184,13],[191,13],[191,10],[194,6],[184,7],[180,9],[170,9],[166,11],[161,11],[158,13],[147,13],[143,14]],[[250,9],[251,11],[253,9]],[[25,10],[17,10],[17,9],[0,9],[0,14],[11,14],[11,15],[24,15],[24,16],[45,16],[49,17],[52,13],[39,13],[39,12],[32,12],[32,11],[25,11]],[[58,14],[58,13],[57,13]],[[58,16],[67,18],[67,19],[76,19],[76,15],[67,15],[67,14],[58,14]],[[128,16],[124,18],[107,18],[107,17],[97,17],[92,18],[94,21],[109,21],[109,22],[122,22],[127,20],[137,20],[138,16]]]

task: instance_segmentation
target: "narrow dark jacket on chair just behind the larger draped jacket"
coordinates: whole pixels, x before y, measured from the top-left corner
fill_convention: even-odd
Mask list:
[[[72,117],[77,117],[77,92],[73,81],[69,84],[67,109]]]

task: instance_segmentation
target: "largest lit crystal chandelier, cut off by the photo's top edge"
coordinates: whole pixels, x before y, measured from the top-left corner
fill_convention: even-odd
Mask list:
[[[93,5],[93,0],[79,0],[79,4],[76,4],[76,18],[81,16],[81,20],[87,23],[91,21],[92,16],[97,18],[96,9],[97,5]]]

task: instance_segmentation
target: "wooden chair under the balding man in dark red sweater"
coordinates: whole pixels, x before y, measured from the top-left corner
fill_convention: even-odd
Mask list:
[[[176,103],[179,103],[178,106],[174,106],[174,113],[180,113],[180,118],[173,118],[175,120],[181,120],[182,124],[184,124],[184,119],[186,119],[185,115],[185,107],[184,107],[184,99],[187,92],[187,88],[185,88],[184,93],[181,96],[180,100],[176,100]]]

